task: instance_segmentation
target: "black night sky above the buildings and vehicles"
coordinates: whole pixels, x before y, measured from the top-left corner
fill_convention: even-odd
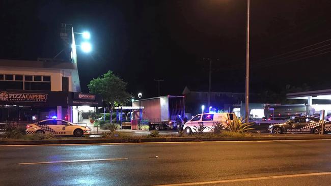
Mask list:
[[[205,89],[208,57],[212,90],[244,91],[246,1],[2,0],[0,7],[3,59],[53,57],[62,49],[61,23],[89,30],[93,52],[77,49],[84,91],[108,70],[133,95],[157,96],[153,79],[164,79],[161,95],[180,95],[185,85]],[[251,0],[252,92],[303,83],[330,88],[330,10],[329,1]]]

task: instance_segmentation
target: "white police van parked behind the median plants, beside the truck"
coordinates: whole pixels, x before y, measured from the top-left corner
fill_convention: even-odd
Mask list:
[[[199,127],[200,124],[206,126],[203,132],[211,132],[214,122],[227,122],[227,119],[233,120],[234,113],[204,113],[198,114],[184,124],[183,129],[186,134],[191,134],[195,131],[195,127]]]

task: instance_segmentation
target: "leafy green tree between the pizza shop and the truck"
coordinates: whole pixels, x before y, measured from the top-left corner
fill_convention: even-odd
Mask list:
[[[127,83],[112,71],[108,71],[96,79],[93,78],[90,84],[88,84],[90,92],[92,94],[100,94],[103,101],[106,102],[107,109],[111,114],[111,123],[114,107],[127,103],[131,97],[126,91],[126,85]]]

